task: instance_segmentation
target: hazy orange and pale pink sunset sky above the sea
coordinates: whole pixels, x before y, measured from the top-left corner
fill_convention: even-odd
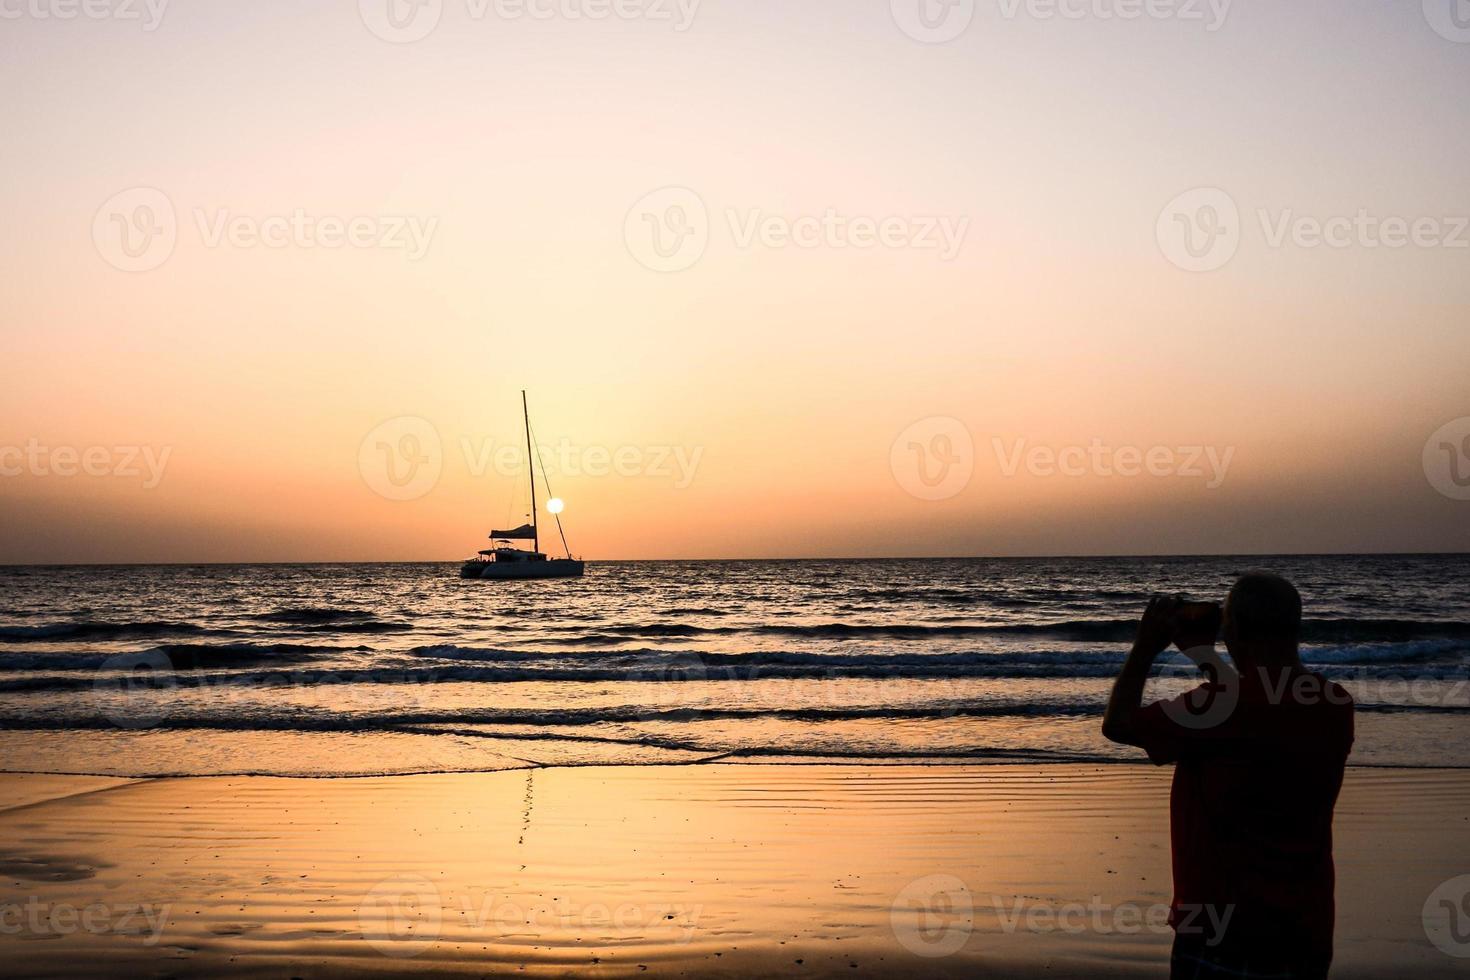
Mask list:
[[[0,563],[1467,550],[1455,12],[0,0]]]

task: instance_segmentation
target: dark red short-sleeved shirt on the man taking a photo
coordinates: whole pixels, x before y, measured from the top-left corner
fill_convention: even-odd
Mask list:
[[[1348,692],[1299,669],[1250,670],[1142,708],[1133,730],[1150,760],[1176,763],[1169,924],[1330,955]]]

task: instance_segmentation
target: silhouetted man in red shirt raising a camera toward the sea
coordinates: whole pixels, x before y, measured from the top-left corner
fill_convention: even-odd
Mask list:
[[[1223,626],[1232,670],[1214,652]],[[1252,573],[1219,607],[1160,597],[1113,685],[1102,735],[1175,764],[1172,977],[1326,977],[1332,808],[1352,746],[1352,698],[1302,667],[1301,595]],[[1210,677],[1141,707],[1173,642]]]

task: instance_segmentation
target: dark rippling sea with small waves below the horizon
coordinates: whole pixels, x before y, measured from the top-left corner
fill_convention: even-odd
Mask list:
[[[1098,733],[1142,607],[1252,569],[1301,589],[1351,764],[1470,765],[1470,555],[1302,555],[0,567],[0,770],[1142,764]]]

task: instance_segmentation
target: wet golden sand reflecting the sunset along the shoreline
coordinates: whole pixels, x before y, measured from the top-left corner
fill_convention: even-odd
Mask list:
[[[0,776],[19,976],[1163,976],[1167,770]],[[1336,977],[1461,976],[1470,771],[1349,770]],[[1464,952],[1470,954],[1470,949]]]

